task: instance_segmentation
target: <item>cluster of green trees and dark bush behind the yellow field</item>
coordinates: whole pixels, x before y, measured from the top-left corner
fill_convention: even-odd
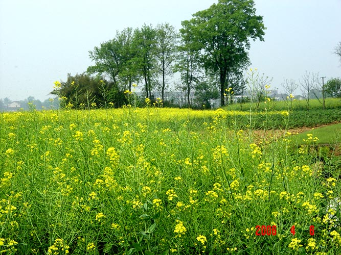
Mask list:
[[[209,106],[216,98],[224,106],[227,93],[245,89],[242,72],[249,65],[249,41],[263,40],[263,18],[255,13],[253,1],[219,0],[182,21],[179,31],[169,23],[117,31],[113,39],[89,51],[94,65],[83,74],[69,74],[52,94],[69,107],[121,107],[127,103],[124,92],[138,84],[145,98],[153,100],[158,94],[164,100],[178,72],[176,89],[186,93],[188,106]]]

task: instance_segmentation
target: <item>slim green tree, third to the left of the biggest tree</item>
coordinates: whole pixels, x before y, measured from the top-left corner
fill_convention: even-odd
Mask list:
[[[135,60],[138,63],[140,74],[145,82],[146,98],[151,97],[151,90],[154,86],[155,74],[155,47],[156,32],[152,25],[144,24],[141,29],[134,31],[134,47],[138,50]]]

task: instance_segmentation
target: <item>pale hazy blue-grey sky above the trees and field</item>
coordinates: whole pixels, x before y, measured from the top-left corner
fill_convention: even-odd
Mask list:
[[[88,51],[116,31],[144,23],[181,21],[217,1],[209,0],[0,0],[0,98],[51,97],[53,83],[92,65]],[[252,43],[253,68],[299,82],[305,71],[341,77],[333,54],[341,41],[341,0],[255,0],[264,16],[265,41]],[[300,93],[300,91],[297,91]]]

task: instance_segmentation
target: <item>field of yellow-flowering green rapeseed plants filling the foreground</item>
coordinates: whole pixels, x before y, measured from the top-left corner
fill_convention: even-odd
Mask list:
[[[335,147],[253,138],[313,110],[227,110],[0,113],[0,254],[340,254]]]

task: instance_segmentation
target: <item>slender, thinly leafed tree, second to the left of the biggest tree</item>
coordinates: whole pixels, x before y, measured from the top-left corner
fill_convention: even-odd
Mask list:
[[[155,56],[157,60],[158,71],[162,75],[162,100],[164,100],[166,75],[172,73],[172,65],[176,59],[177,38],[178,35],[175,31],[175,28],[169,23],[157,25],[155,34]]]

